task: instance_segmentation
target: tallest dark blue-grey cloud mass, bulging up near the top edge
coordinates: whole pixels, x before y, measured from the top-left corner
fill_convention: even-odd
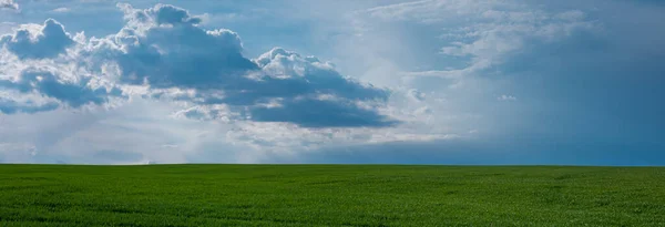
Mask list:
[[[112,39],[99,40],[93,53],[115,61],[122,83],[151,87],[217,89],[257,69],[242,55],[239,37],[229,30],[204,30],[201,19],[167,4],[139,10],[119,4],[125,27]]]

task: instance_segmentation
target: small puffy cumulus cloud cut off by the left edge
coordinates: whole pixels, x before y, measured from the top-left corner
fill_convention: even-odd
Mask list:
[[[82,35],[82,34],[81,34]],[[119,86],[102,75],[79,69],[80,45],[53,19],[43,24],[22,24],[0,39],[0,112],[35,113],[59,107],[102,105],[123,97]]]

